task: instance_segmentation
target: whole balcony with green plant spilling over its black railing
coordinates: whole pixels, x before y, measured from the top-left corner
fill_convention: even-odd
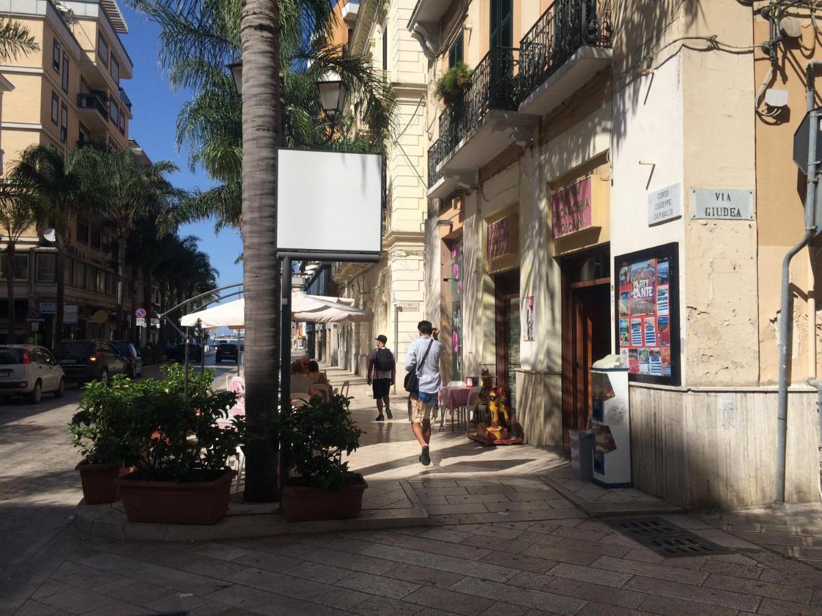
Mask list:
[[[515,142],[528,140],[536,118],[517,113],[519,49],[495,47],[473,70],[471,85],[440,116],[428,149],[428,197],[478,182],[479,168]]]

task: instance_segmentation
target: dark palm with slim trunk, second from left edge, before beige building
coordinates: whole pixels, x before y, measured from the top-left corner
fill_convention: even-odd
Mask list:
[[[66,293],[66,255],[72,217],[102,212],[103,183],[99,170],[103,154],[93,148],[80,148],[63,158],[53,145],[31,145],[23,150],[12,167],[12,181],[30,186],[48,206],[48,217],[55,221],[57,232],[57,313],[54,319],[54,342],[62,336],[64,298]]]

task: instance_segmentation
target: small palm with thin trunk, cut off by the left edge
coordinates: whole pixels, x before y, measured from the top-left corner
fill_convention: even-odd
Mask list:
[[[30,228],[44,218],[44,204],[39,195],[19,182],[0,184],[0,232],[6,240],[3,275],[6,277],[8,297],[7,342],[16,338],[16,310],[14,309],[14,260],[17,242]]]

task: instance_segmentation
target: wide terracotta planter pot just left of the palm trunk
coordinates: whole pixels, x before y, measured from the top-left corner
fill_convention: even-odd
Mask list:
[[[215,524],[229,512],[233,471],[211,481],[150,481],[140,472],[117,480],[129,522]]]

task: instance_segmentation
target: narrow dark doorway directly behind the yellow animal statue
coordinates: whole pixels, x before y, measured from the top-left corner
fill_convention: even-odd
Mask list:
[[[520,270],[498,274],[496,290],[496,384],[508,390],[516,408],[516,370],[520,367]]]

